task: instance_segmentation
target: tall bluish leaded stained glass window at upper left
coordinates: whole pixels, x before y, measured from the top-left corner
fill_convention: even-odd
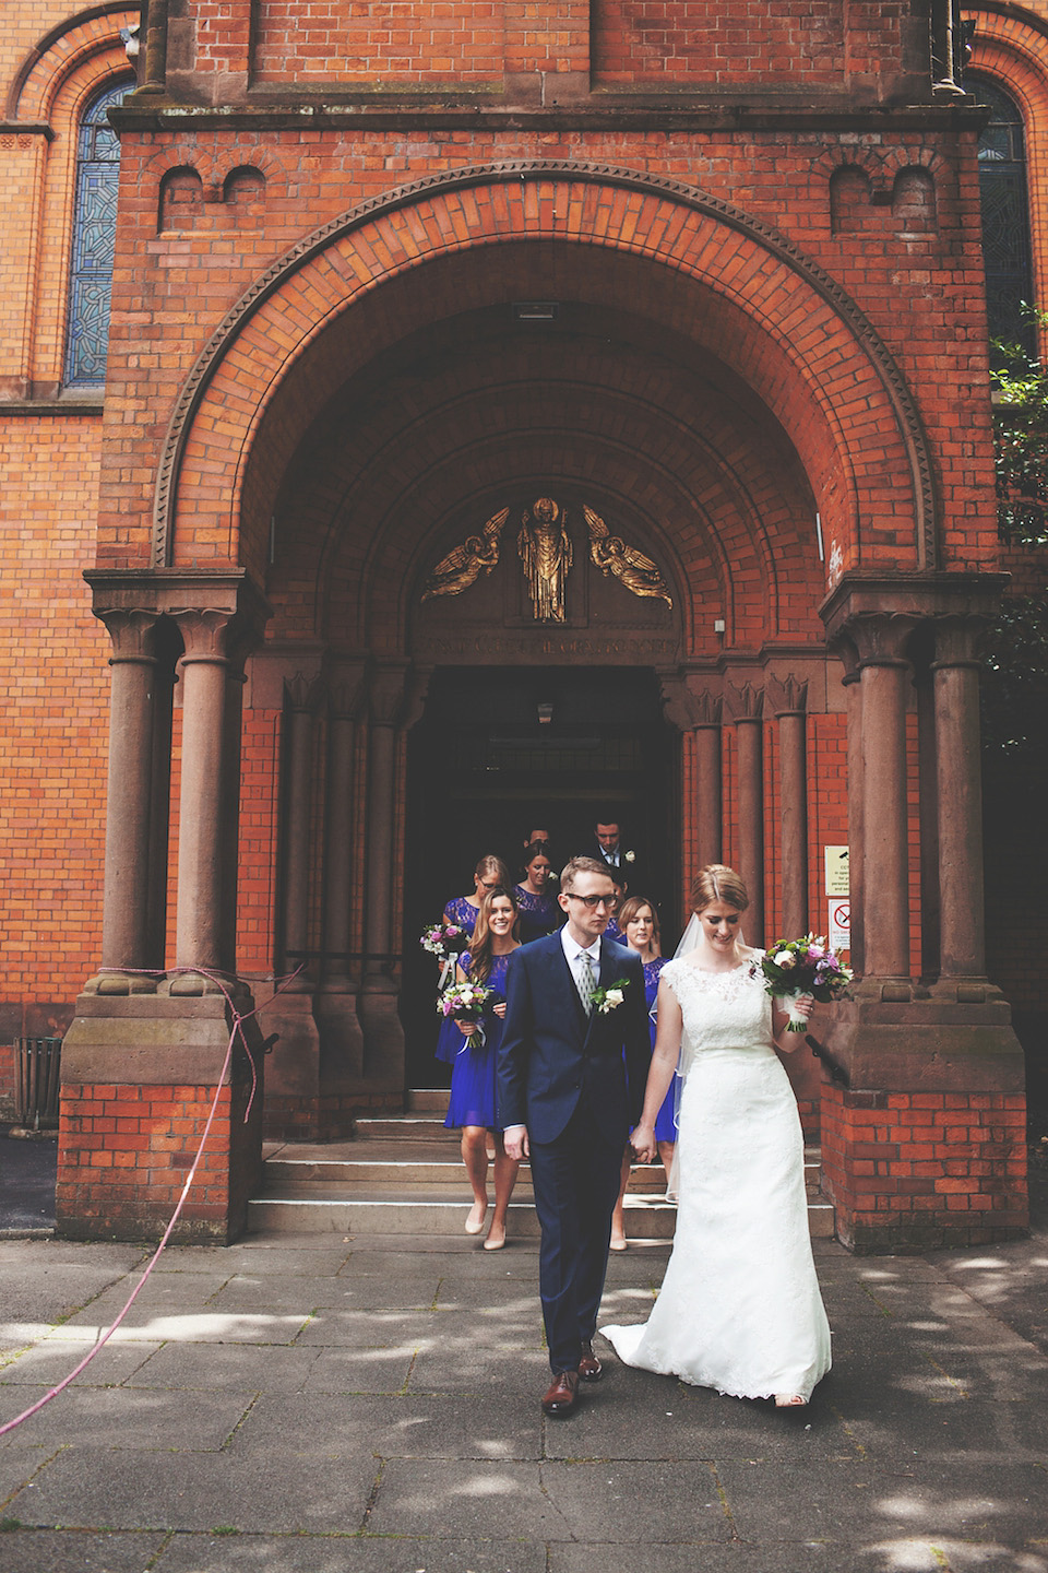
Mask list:
[[[108,304],[116,238],[119,142],[105,112],[123,102],[132,82],[108,87],[88,104],[77,143],[77,195],[72,216],[66,387],[105,382]]]

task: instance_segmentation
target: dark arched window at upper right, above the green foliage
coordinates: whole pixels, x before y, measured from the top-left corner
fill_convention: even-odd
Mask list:
[[[991,110],[990,124],[979,138],[982,260],[987,269],[990,333],[1034,354],[1034,326],[1023,315],[1023,302],[1034,300],[1023,115],[1015,99],[996,82],[969,74],[965,87]]]

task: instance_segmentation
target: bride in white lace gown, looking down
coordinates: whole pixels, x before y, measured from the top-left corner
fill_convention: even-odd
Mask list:
[[[808,1233],[804,1139],[775,1054],[797,1035],[764,991],[762,952],[740,939],[748,897],[738,875],[702,868],[691,906],[698,938],[658,980],[658,1035],[633,1131],[638,1159],[654,1162],[654,1122],[680,1049],[677,1233],[647,1321],[602,1332],[627,1365],[803,1405],[830,1370],[830,1324]]]

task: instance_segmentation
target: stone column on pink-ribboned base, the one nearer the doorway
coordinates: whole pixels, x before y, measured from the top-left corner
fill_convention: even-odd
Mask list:
[[[178,610],[185,654],[182,681],[182,783],[179,793],[178,919],[174,964],[222,966],[222,766],[225,755],[226,637],[229,612]],[[171,994],[207,993],[204,978],[171,982]]]

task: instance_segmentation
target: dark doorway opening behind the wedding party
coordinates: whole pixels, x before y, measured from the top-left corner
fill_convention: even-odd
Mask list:
[[[649,669],[443,667],[409,738],[409,818],[401,1018],[412,1087],[446,1082],[432,956],[418,945],[451,897],[473,889],[479,857],[522,873],[526,834],[548,829],[555,868],[592,849],[613,815],[636,853],[663,931],[679,933],[679,736]],[[650,887],[650,889],[647,889]]]

